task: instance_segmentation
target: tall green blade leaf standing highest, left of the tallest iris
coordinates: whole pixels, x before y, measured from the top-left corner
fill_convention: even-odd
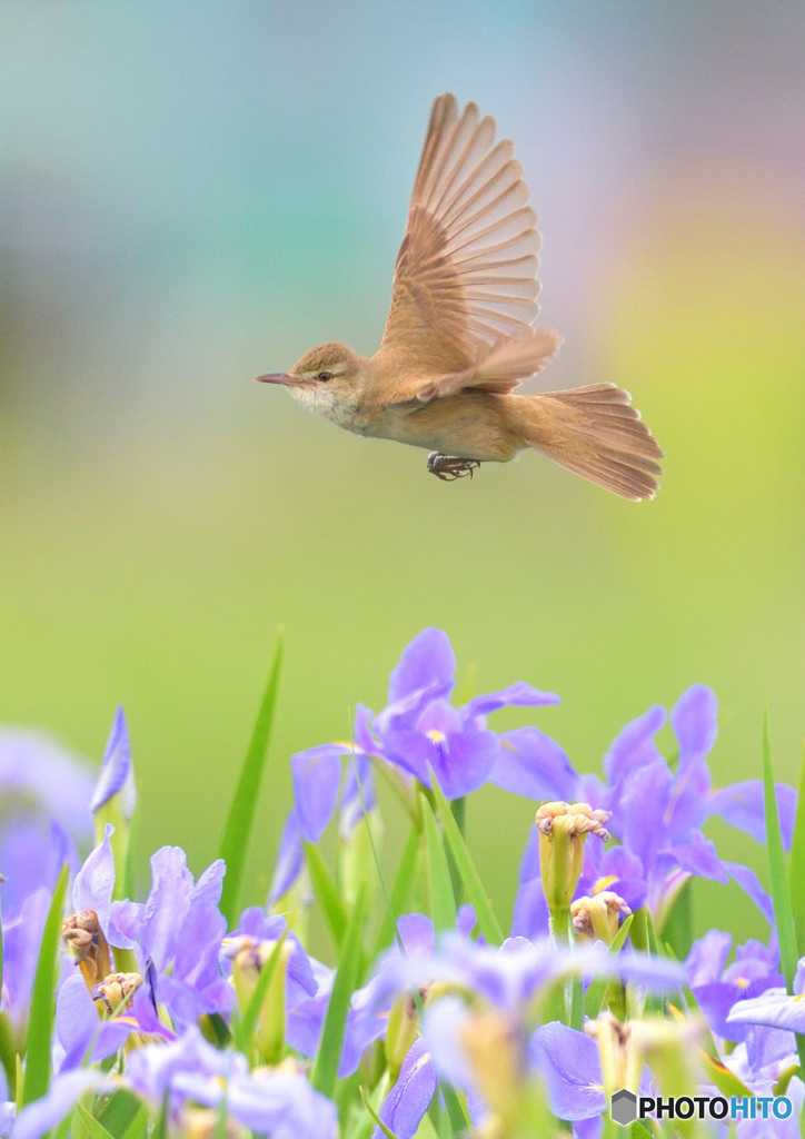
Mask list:
[[[277,705],[277,689],[282,667],[282,630],[277,634],[274,659],[265,686],[263,703],[257,713],[257,722],[252,732],[252,740],[240,771],[240,779],[229,809],[229,818],[224,828],[219,857],[227,863],[227,874],[221,893],[221,912],[227,918],[231,929],[237,921],[240,890],[243,886],[246,851],[248,850],[254,814],[257,809],[257,794],[265,765],[265,756],[271,737],[271,726]]]

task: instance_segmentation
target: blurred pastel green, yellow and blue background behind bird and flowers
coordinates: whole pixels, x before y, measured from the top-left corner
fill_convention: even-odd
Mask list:
[[[718,781],[759,773],[765,706],[796,778],[804,46],[797,0],[2,5],[0,720],[97,764],[125,705],[142,871],[162,843],[214,857],[279,624],[255,898],[289,756],[381,707],[429,624],[476,691],[558,691],[536,722],[581,770],[705,682]],[[379,343],[444,90],[525,166],[566,338],[545,383],[633,392],[655,502],[535,454],[443,484],[252,382]],[[502,913],[532,812],[470,808]],[[737,890],[696,898],[699,925],[762,931]]]

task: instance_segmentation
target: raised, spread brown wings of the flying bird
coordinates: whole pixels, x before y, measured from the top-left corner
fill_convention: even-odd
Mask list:
[[[511,142],[495,144],[494,134],[494,120],[474,103],[459,116],[452,95],[436,99],[380,345],[379,354],[394,350],[405,360],[409,379],[393,402],[468,385],[511,391],[559,344],[533,327],[536,213]],[[434,384],[434,374],[443,382]]]

